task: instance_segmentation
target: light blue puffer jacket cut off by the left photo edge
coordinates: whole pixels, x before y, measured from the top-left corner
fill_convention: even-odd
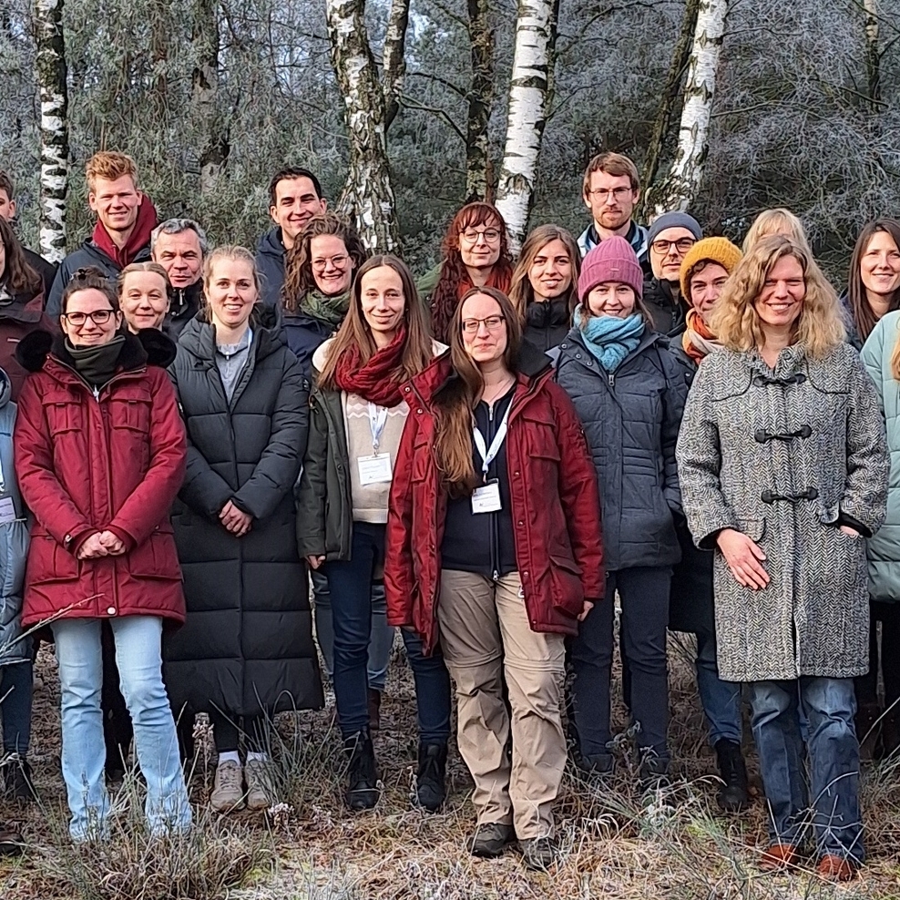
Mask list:
[[[0,504],[12,500],[15,521],[0,524],[0,665],[31,659],[31,639],[22,633],[22,596],[28,557],[26,508],[13,468],[15,404],[12,385],[0,369]]]

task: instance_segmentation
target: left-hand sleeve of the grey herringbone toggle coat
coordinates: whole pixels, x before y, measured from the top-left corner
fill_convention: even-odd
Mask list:
[[[684,406],[675,448],[684,514],[694,543],[705,550],[715,547],[723,528],[739,530],[721,489],[719,426],[712,416],[710,393],[714,377],[710,363],[703,363]]]

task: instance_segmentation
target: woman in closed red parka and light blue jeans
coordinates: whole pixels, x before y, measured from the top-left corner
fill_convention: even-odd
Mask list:
[[[109,828],[103,619],[134,721],[150,831],[165,834],[190,824],[160,654],[163,622],[184,620],[169,507],[187,450],[163,368],[174,345],[152,330],[128,333],[115,286],[93,268],[67,285],[59,321],[61,334],[34,332],[16,352],[32,373],[14,435],[16,475],[35,516],[22,620],[49,622],[56,639],[72,838],[103,839]]]

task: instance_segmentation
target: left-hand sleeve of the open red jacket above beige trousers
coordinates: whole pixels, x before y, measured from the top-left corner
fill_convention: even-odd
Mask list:
[[[418,430],[418,416],[410,414],[394,463],[384,538],[387,624],[401,627],[413,624],[413,448]]]

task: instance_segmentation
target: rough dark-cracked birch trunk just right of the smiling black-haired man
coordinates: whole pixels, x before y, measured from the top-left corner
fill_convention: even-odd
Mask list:
[[[326,0],[332,66],[343,95],[350,166],[341,207],[353,215],[372,253],[399,246],[394,189],[387,161],[384,89],[363,18],[364,0]]]

